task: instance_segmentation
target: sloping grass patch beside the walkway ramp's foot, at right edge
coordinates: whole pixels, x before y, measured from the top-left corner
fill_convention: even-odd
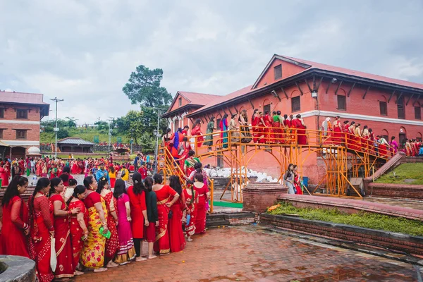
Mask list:
[[[423,185],[423,164],[400,164],[393,171],[384,174],[374,182]]]

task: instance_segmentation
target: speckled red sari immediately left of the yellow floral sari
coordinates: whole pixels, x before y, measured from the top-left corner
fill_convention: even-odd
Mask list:
[[[85,226],[88,228],[88,210],[85,208],[85,204],[81,201],[71,202],[69,204],[68,209],[75,209],[79,207],[80,213],[84,214],[84,221]],[[73,272],[76,271],[76,266],[78,266],[78,262],[80,259],[80,254],[82,251],[82,246],[84,245],[84,241],[82,241],[82,236],[84,235],[84,231],[82,230],[78,219],[76,219],[76,214],[71,216],[71,243],[72,243],[72,266]]]

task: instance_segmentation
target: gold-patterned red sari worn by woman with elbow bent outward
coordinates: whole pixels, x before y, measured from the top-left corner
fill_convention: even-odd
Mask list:
[[[176,191],[169,185],[163,185],[162,188],[154,192],[156,192],[157,196],[157,215],[159,216],[154,252],[166,255],[171,251],[168,235],[168,214],[170,209],[166,206],[166,203],[170,202],[171,196],[176,195]]]

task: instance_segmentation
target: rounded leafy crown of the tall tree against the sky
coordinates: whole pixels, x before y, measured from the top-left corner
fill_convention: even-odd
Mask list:
[[[140,103],[142,106],[150,107],[168,105],[172,101],[172,96],[165,87],[160,86],[162,78],[161,68],[150,70],[140,65],[130,74],[129,82],[122,91],[132,104]]]

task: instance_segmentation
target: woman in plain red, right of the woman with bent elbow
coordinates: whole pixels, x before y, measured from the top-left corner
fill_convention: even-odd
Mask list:
[[[172,205],[172,218],[169,219],[169,242],[171,244],[171,252],[180,252],[185,247],[185,237],[182,231],[182,210],[185,207],[182,185],[180,185],[180,180],[178,176],[171,176],[169,178],[169,186],[181,195],[181,197],[176,200],[175,204]]]

